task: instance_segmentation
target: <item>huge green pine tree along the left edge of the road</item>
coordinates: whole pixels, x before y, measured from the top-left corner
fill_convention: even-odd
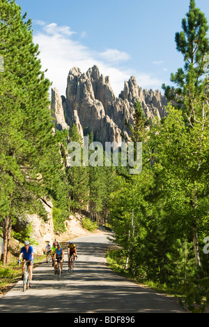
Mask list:
[[[8,260],[13,220],[24,213],[45,217],[41,199],[55,186],[61,156],[52,133],[49,86],[33,44],[31,20],[15,1],[0,3],[0,219],[3,264]]]

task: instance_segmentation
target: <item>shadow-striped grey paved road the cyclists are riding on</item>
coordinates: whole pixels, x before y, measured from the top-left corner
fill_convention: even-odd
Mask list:
[[[181,313],[176,303],[118,276],[105,264],[107,235],[76,239],[78,261],[73,275],[64,265],[58,281],[46,263],[33,270],[33,287],[22,281],[0,299],[1,313]],[[67,256],[65,254],[65,260]]]

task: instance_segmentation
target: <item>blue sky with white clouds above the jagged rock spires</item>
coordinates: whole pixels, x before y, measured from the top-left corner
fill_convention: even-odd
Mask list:
[[[176,31],[189,0],[16,0],[32,19],[42,69],[52,87],[65,95],[68,72],[96,64],[109,75],[116,96],[131,75],[143,89],[171,85],[170,74],[183,67]],[[196,0],[209,23],[208,0]]]

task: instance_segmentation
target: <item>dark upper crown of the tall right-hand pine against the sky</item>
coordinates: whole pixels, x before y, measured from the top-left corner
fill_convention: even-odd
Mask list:
[[[199,102],[206,101],[208,77],[206,65],[209,55],[208,22],[204,13],[196,8],[194,0],[190,0],[189,12],[182,20],[183,31],[177,32],[176,49],[183,54],[185,66],[171,74],[171,82],[177,88],[162,85],[167,99],[183,106],[189,123],[196,119]]]

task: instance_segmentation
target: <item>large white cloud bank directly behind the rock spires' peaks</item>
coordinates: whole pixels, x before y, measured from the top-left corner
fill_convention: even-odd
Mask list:
[[[60,94],[65,94],[68,72],[75,66],[86,72],[88,68],[97,65],[101,74],[109,75],[116,96],[123,89],[125,80],[129,80],[131,75],[136,76],[141,87],[156,88],[160,85],[160,81],[152,78],[150,74],[139,72],[134,74],[132,69],[121,68],[119,65],[130,59],[130,55],[126,52],[116,49],[95,52],[81,41],[75,41],[76,37],[80,40],[79,35],[71,31],[70,27],[58,26],[56,23],[47,25],[42,21],[38,23],[42,29],[34,34],[33,41],[39,45],[42,70],[47,69],[45,76],[53,82],[52,87],[59,89]],[[86,36],[84,31],[82,36]]]

